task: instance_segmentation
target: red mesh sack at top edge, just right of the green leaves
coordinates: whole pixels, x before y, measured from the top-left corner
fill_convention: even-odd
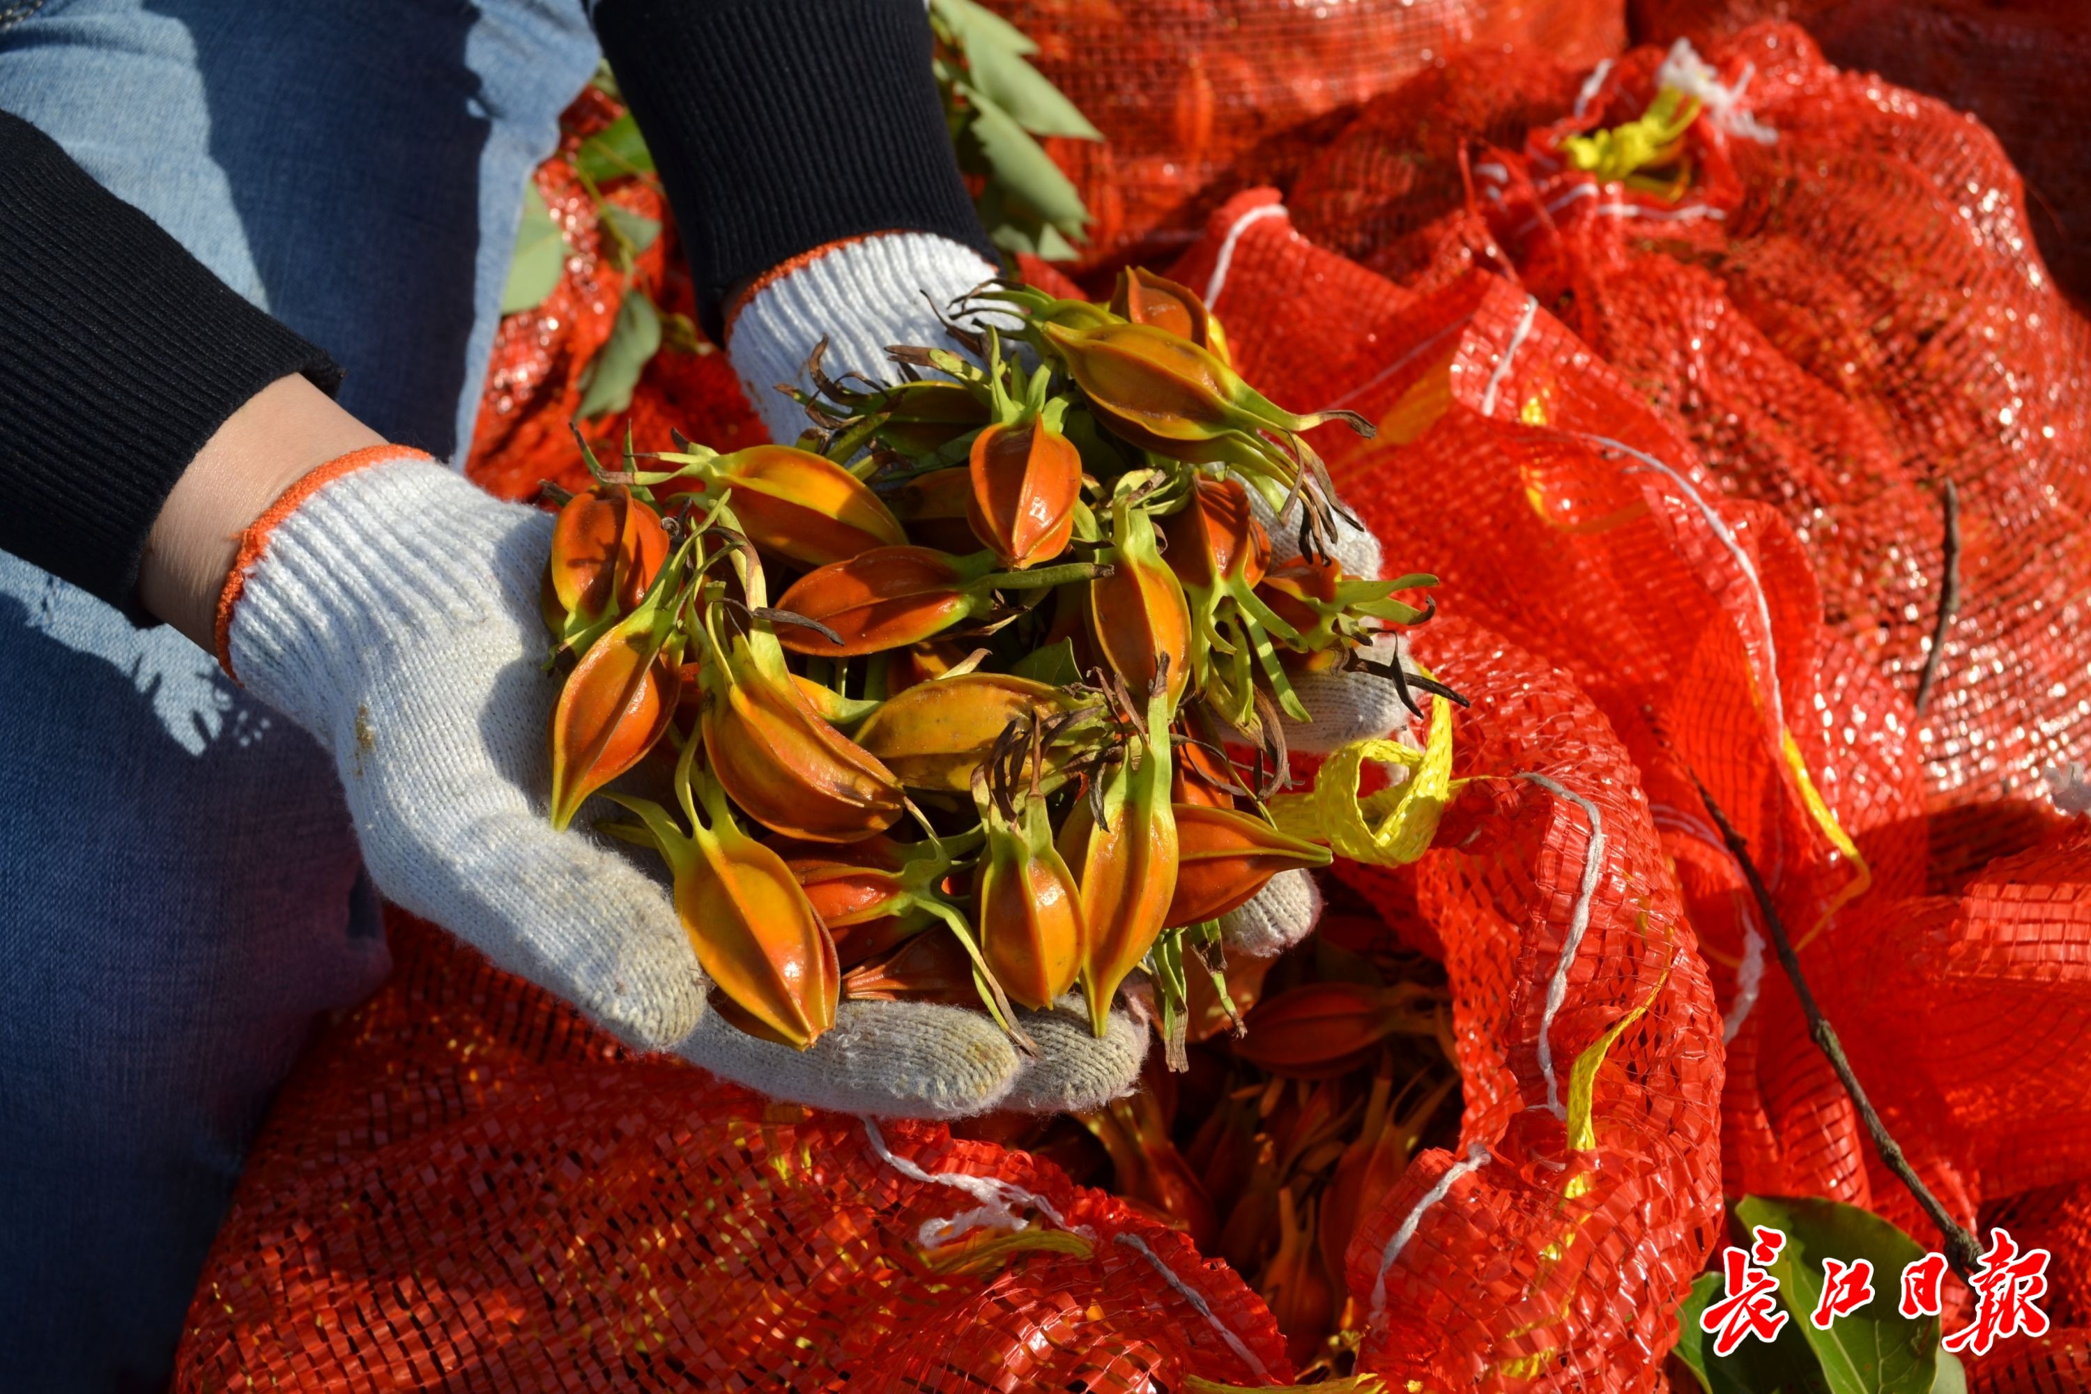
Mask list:
[[[1288,182],[1347,119],[1464,44],[1589,65],[1623,0],[989,0],[1104,142],[1054,140],[1096,224],[1081,265],[1161,263],[1230,194]]]

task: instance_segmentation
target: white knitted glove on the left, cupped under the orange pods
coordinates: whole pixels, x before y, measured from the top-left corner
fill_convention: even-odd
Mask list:
[[[1144,1039],[1060,1032],[1027,1062],[981,1012],[841,1003],[809,1051],[742,1035],[667,886],[621,849],[554,832],[537,583],[552,518],[502,504],[418,451],[378,449],[301,481],[249,533],[222,656],[332,754],[378,890],[642,1049],[761,1093],[882,1116],[1004,1103],[1094,1108]],[[1050,1041],[1050,1045],[1048,1045]]]

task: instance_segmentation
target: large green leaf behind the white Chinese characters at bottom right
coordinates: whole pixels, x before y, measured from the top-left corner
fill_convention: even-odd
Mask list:
[[[1736,1204],[1744,1227],[1786,1231],[1786,1248],[1769,1264],[1779,1279],[1786,1323],[1815,1352],[1832,1394],[1930,1394],[1938,1361],[1938,1319],[1897,1310],[1903,1269],[1924,1250],[1901,1229],[1834,1200],[1746,1195]],[[1823,1258],[1874,1264],[1874,1300],[1817,1331],[1809,1321],[1823,1292]],[[1782,1331],[1784,1335],[1784,1331]]]

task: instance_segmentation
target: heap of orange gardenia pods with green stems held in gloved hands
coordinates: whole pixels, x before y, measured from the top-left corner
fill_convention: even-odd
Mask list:
[[[1443,694],[1370,656],[1434,581],[1342,573],[1301,433],[1372,428],[1271,405],[1184,286],[997,282],[958,309],[1006,328],[893,349],[895,387],[815,353],[797,445],[588,456],[544,575],[552,821],[596,794],[629,813],[600,828],[667,861],[751,1035],[803,1049],[841,997],[907,997],[1029,1047],[1012,1003],[1079,984],[1102,1035],[1144,970],[1179,1041],[1217,917],[1330,859],[1265,803],[1307,717],[1292,679]],[[1271,566],[1250,491],[1296,506],[1296,560]]]

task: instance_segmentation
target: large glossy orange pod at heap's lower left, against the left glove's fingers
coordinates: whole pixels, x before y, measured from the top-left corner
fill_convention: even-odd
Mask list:
[[[688,769],[684,761],[682,775]],[[617,803],[640,817],[667,859],[675,913],[713,986],[761,1026],[759,1035],[805,1049],[834,1026],[834,940],[784,859],[734,826],[719,786],[700,775],[692,788],[705,809],[692,817],[692,836],[659,805]]]

